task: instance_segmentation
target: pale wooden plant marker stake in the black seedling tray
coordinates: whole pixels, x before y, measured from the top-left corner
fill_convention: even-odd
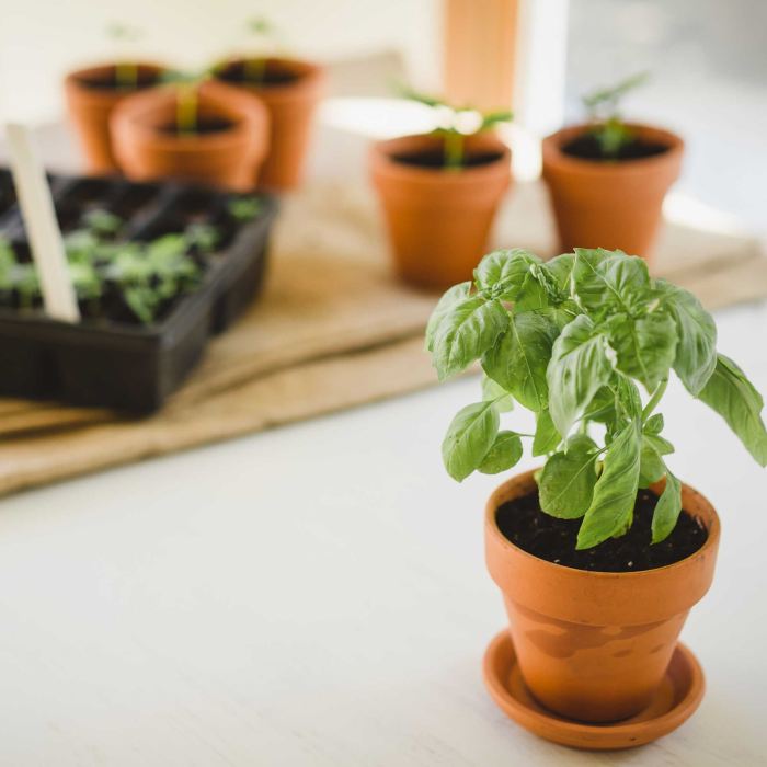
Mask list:
[[[9,123],[5,136],[19,207],[39,273],[45,311],[56,320],[79,322],[80,310],[69,278],[54,198],[43,165],[34,152],[28,128]]]

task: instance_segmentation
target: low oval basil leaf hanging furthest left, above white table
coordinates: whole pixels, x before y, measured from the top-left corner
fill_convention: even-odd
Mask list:
[[[442,444],[447,473],[462,482],[484,460],[499,432],[499,412],[492,402],[476,402],[458,411]]]

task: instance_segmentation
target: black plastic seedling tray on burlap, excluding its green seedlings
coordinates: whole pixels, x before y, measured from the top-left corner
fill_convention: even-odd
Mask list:
[[[0,307],[0,394],[57,399],[77,405],[149,413],[186,378],[208,339],[225,331],[259,294],[274,197],[259,193],[257,215],[228,215],[233,196],[175,183],[50,176],[57,217],[66,233],[83,211],[115,213],[126,221],[121,240],[152,240],[190,222],[220,227],[199,285],[148,325],[104,319],[51,320],[42,310]],[[0,234],[28,252],[8,171],[0,169]]]

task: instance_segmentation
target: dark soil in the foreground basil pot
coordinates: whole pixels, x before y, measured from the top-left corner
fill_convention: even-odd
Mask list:
[[[683,510],[674,531],[653,545],[651,524],[656,504],[657,495],[640,490],[629,531],[583,551],[575,549],[582,519],[558,519],[545,514],[537,492],[502,504],[495,519],[501,533],[515,546],[554,564],[598,572],[636,572],[686,559],[708,537],[706,528]]]

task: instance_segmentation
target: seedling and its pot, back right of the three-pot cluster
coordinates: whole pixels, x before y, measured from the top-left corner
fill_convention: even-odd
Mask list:
[[[271,141],[259,183],[277,191],[295,188],[304,174],[312,118],[324,88],[324,69],[281,55],[277,31],[266,19],[249,20],[245,32],[253,51],[217,66],[214,75],[256,94],[268,111]]]

